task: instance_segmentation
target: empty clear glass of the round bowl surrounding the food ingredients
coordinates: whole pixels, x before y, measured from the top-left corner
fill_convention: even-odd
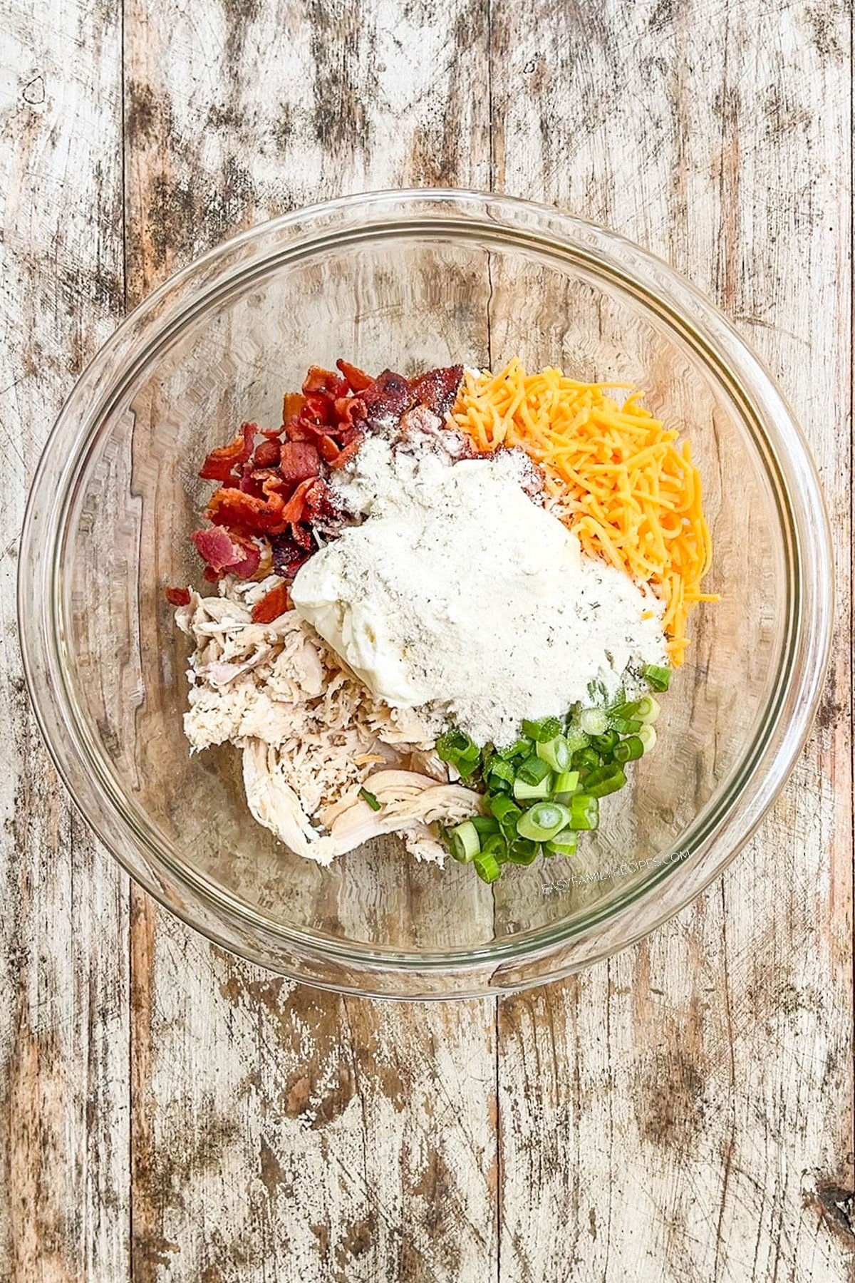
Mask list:
[[[378,839],[324,870],[250,817],[240,754],[190,757],[187,639],[164,600],[205,453],[279,423],[310,363],[499,368],[518,355],[642,387],[692,443],[722,600],[701,607],[656,752],[577,861],[494,887]],[[622,948],[740,849],[820,692],[829,532],[793,417],[727,319],[664,263],[554,209],[391,191],[256,227],[173,276],[72,391],[36,472],[19,575],[27,681],[56,766],[120,863],[246,958],[397,997],[513,990]]]

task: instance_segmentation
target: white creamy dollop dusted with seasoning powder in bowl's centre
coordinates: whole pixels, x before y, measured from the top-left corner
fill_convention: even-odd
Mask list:
[[[297,574],[297,612],[395,708],[429,706],[479,743],[667,663],[663,604],[585,556],[522,489],[520,453],[451,463],[372,438],[341,485],[365,516]],[[646,617],[645,617],[646,616]]]

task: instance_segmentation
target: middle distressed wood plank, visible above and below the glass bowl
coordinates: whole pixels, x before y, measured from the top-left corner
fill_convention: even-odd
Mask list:
[[[133,298],[295,205],[487,183],[485,5],[156,8],[126,13]],[[135,1283],[495,1278],[495,1005],[292,987],[133,905]]]

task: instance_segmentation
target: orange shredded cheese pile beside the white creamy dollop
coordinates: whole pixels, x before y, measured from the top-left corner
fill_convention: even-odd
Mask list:
[[[664,600],[663,629],[672,663],[681,665],[686,620],[710,567],[701,479],[688,441],[678,441],[631,391],[622,403],[606,389],[560,370],[527,375],[519,361],[500,373],[467,372],[451,411],[476,449],[522,446],[546,477],[547,503],[583,549],[650,584]]]

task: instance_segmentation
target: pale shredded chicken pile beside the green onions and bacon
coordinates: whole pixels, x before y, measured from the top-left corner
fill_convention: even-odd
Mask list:
[[[231,742],[244,753],[250,811],[295,853],[328,865],[397,833],[418,860],[444,862],[441,822],[481,810],[449,783],[435,752],[436,718],[390,708],[350,672],[296,611],[254,624],[253,604],[278,582],[223,580],[191,590],[176,622],[195,643],[185,733],[191,749]],[[374,811],[361,797],[368,786]]]

